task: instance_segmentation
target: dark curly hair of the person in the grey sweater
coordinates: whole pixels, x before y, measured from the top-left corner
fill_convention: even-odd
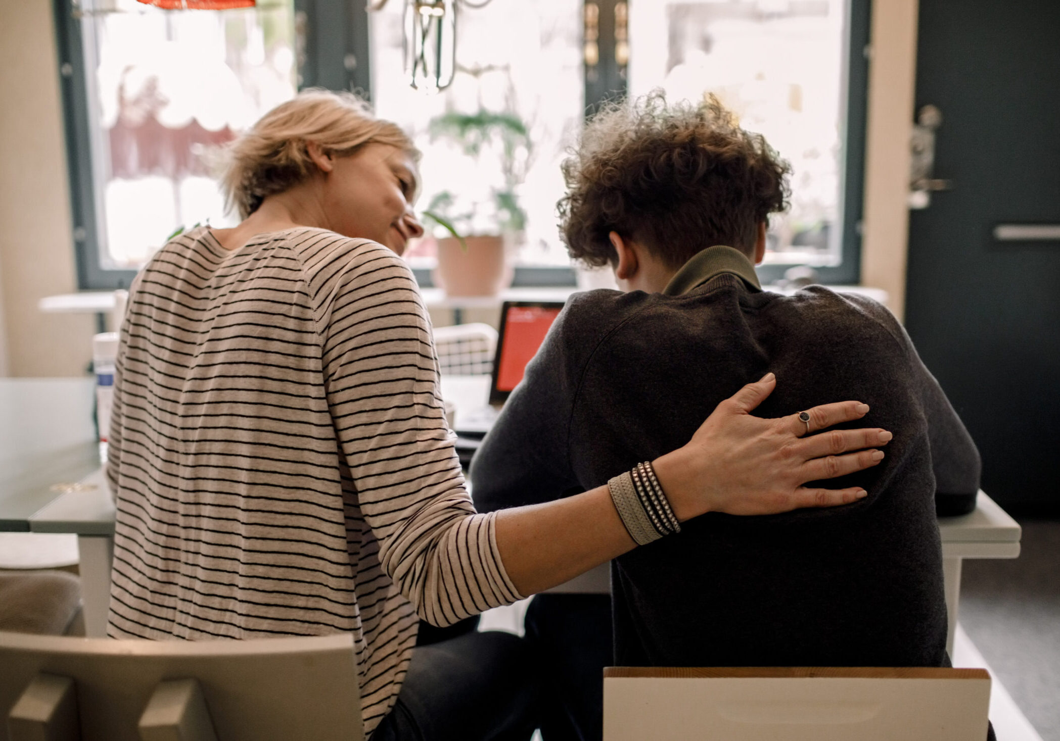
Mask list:
[[[790,171],[713,95],[693,106],[655,91],[586,124],[563,163],[560,228],[570,256],[595,267],[618,261],[612,231],[672,268],[713,245],[749,253],[758,224],[788,207]]]

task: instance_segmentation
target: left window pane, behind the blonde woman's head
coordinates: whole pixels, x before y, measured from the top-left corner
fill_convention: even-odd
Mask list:
[[[101,267],[138,268],[179,227],[234,222],[211,155],[295,94],[293,0],[81,5]]]

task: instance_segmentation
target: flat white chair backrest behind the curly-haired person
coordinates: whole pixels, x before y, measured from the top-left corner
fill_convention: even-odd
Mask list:
[[[983,741],[984,669],[608,667],[604,741]]]

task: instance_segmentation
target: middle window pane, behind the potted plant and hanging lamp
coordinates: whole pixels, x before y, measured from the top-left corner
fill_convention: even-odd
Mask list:
[[[435,94],[406,78],[404,5],[390,0],[369,14],[372,103],[423,151],[418,209],[462,235],[507,232],[519,265],[567,265],[555,203],[560,162],[584,112],[581,0],[457,3],[456,74]],[[432,237],[447,234],[427,225],[406,252],[413,267],[434,265]]]

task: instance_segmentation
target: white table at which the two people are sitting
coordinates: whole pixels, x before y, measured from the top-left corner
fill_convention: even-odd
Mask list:
[[[485,376],[445,376],[442,396],[461,413],[481,406],[490,379]],[[81,575],[85,595],[86,633],[103,635],[110,595],[110,561],[113,555],[114,506],[103,471],[82,481],[78,490],[59,495],[30,519],[34,532],[74,532],[81,550]],[[979,492],[975,511],[938,521],[942,539],[946,604],[949,615],[947,648],[953,650],[960,598],[960,566],[966,558],[1015,558],[1020,555],[1020,525],[986,493]],[[551,590],[561,593],[606,593],[611,589],[607,564]]]

